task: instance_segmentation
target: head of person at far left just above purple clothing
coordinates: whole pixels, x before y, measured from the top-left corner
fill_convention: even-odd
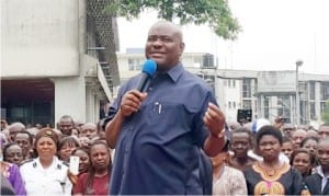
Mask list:
[[[23,150],[14,142],[10,142],[3,148],[3,160],[9,163],[20,165],[23,161]]]

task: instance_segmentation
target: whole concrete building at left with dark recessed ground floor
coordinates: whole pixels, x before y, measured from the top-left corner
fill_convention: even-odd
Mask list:
[[[109,2],[1,1],[1,118],[53,127],[61,115],[99,120],[120,83]]]

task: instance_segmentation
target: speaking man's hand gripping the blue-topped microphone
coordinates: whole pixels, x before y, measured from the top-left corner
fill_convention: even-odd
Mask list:
[[[141,102],[146,99],[147,93],[141,93],[137,90],[128,91],[124,94],[120,105],[120,114],[123,117],[128,117],[140,108]]]

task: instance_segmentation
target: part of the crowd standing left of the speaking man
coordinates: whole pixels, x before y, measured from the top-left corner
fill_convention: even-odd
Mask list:
[[[1,173],[14,195],[109,194],[111,150],[97,124],[76,124],[69,115],[57,129],[3,124]],[[69,170],[70,157],[79,158],[77,174]]]

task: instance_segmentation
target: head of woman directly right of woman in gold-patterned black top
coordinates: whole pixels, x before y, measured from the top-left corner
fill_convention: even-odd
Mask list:
[[[296,149],[292,153],[291,165],[300,172],[303,178],[306,178],[316,165],[315,154],[307,149]]]

